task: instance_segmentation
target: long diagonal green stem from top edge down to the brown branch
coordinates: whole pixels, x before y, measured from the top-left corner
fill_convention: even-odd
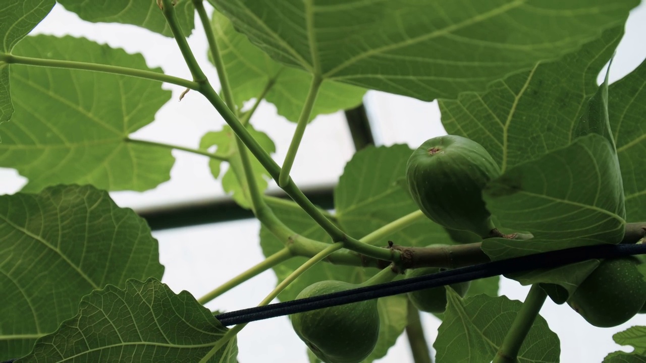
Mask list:
[[[186,39],[182,36],[182,31],[178,25],[176,14],[174,8],[172,7],[171,0],[163,0],[163,13],[166,17],[169,26],[171,27],[172,34],[175,37],[178,47],[182,52],[187,66],[191,70],[191,74],[194,75],[194,78],[198,83],[200,83],[200,89],[198,92],[211,102],[211,105],[220,113],[220,116],[224,118],[224,121],[231,127],[236,136],[242,140],[244,145],[251,151],[251,153],[256,156],[260,164],[269,172],[269,174],[278,180],[280,178],[280,167],[276,162],[269,156],[269,154],[260,146],[258,141],[256,141],[249,130],[247,130],[242,123],[238,120],[236,115],[233,113],[227,105],[225,105],[222,98],[218,96],[218,93],[215,92],[211,83],[204,76],[200,65],[195,61],[193,52],[189,47]],[[303,192],[298,189],[297,185],[288,178],[287,184],[282,187],[287,195],[289,195],[294,202],[297,202],[298,205],[307,213],[309,216],[315,220],[318,225],[320,225],[326,233],[331,236],[332,240],[335,242],[344,242],[344,246],[348,249],[356,251],[366,256],[373,258],[378,258],[380,260],[391,260],[393,262],[399,262],[400,253],[399,251],[389,251],[387,249],[382,249],[372,245],[362,244],[361,242],[346,236],[346,234],[339,229],[334,223],[332,223],[324,214],[322,214],[317,207],[303,194]]]

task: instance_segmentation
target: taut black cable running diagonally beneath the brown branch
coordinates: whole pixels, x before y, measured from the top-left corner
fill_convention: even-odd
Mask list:
[[[411,291],[429,289],[431,287],[477,280],[479,278],[506,275],[533,269],[552,268],[594,258],[618,258],[631,254],[646,254],[646,244],[603,244],[561,249],[558,251],[510,258],[508,260],[486,262],[485,264],[461,267],[433,275],[406,278],[405,280],[388,282],[386,284],[339,291],[338,293],[280,302],[267,306],[251,307],[249,309],[218,314],[215,318],[220,320],[220,323],[224,326],[232,326],[256,320],[275,318],[276,316],[303,313],[304,311],[322,309],[324,307],[339,306],[352,302],[410,293]]]

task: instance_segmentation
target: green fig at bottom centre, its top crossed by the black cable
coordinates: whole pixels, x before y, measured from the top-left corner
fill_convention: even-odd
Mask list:
[[[303,289],[297,299],[357,287],[342,281],[320,281]],[[323,362],[358,363],[372,353],[379,338],[377,300],[297,313],[291,315],[291,324]]]

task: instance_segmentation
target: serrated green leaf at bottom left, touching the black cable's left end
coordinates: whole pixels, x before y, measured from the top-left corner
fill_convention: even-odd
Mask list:
[[[229,330],[187,291],[150,278],[107,285],[83,297],[63,322],[19,362],[197,362]],[[209,362],[236,363],[236,338]]]

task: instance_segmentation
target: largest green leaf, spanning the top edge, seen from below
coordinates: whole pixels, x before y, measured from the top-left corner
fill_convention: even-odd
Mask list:
[[[483,90],[625,22],[638,0],[209,0],[286,65],[424,100]]]

